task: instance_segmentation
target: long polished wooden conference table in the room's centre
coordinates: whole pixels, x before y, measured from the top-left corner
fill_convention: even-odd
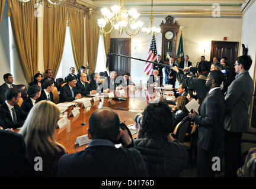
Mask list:
[[[115,92],[115,96],[120,96],[119,92]],[[149,90],[148,85],[134,87],[134,90],[124,89],[124,99],[125,101],[114,100],[108,97],[100,96],[100,100],[93,102],[91,100],[91,107],[82,108],[82,103],[79,103],[79,115],[75,117],[69,116],[73,107],[70,106],[66,110],[68,112],[68,119],[70,120],[70,125],[63,126],[62,128],[58,128],[55,131],[56,141],[65,146],[68,154],[81,151],[86,148],[87,145],[79,146],[75,145],[76,138],[78,136],[86,135],[87,129],[89,126],[89,118],[91,114],[101,107],[110,107],[114,110],[114,112],[119,115],[120,121],[126,123],[126,125],[130,125],[135,123],[134,117],[137,113],[142,113],[148,103],[151,103],[156,99],[159,90],[153,89]],[[83,96],[83,97],[91,97],[91,96]],[[92,98],[92,97],[91,97]],[[81,125],[81,123],[86,123],[86,125]]]

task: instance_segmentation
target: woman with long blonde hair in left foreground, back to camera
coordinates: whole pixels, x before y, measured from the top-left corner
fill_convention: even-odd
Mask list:
[[[59,158],[66,154],[65,148],[55,140],[59,115],[60,110],[55,103],[42,100],[30,110],[19,132],[27,144],[27,157],[36,176],[55,176]],[[41,167],[37,164],[40,161]]]

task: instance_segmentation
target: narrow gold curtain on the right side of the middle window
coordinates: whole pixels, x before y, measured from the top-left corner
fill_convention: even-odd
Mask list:
[[[73,57],[77,70],[84,66],[84,13],[69,9],[69,27]]]

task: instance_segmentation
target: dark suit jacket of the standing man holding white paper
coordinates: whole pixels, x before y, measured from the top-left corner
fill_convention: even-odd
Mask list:
[[[194,120],[199,125],[197,146],[207,151],[217,151],[223,144],[226,103],[220,89],[213,90],[201,103],[199,115]]]

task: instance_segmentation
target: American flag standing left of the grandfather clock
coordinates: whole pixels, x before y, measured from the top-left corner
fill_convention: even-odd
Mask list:
[[[153,34],[152,41],[151,41],[151,47],[148,51],[148,61],[155,61],[156,60],[156,43],[155,43],[155,34]],[[153,74],[153,64],[152,63],[145,63],[145,70],[144,73],[148,76]]]

